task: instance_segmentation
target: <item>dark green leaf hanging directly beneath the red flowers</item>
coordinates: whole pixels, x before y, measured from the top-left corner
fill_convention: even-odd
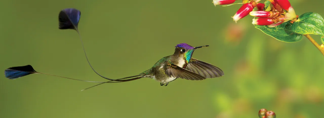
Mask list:
[[[284,22],[277,27],[259,26],[255,28],[260,29],[263,33],[283,42],[298,42],[302,39],[303,35],[293,32],[291,30],[292,23]]]

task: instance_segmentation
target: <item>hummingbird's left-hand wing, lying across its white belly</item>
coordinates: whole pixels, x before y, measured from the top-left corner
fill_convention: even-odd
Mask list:
[[[204,80],[205,77],[198,75],[194,72],[191,72],[189,70],[186,70],[184,68],[181,68],[177,66],[176,64],[172,63],[171,61],[167,61],[164,66],[165,74],[167,74],[169,77],[176,77],[176,78],[182,78],[186,80]]]

